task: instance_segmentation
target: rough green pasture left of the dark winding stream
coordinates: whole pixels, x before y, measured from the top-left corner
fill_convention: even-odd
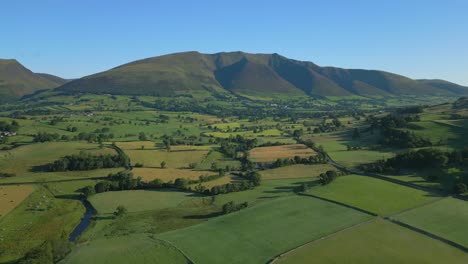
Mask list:
[[[17,260],[46,240],[68,239],[84,211],[78,200],[54,198],[38,186],[0,218],[0,263]]]

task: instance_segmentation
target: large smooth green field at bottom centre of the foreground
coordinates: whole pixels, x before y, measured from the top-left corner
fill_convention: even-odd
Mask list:
[[[265,263],[273,256],[369,219],[310,197],[263,203],[161,234],[195,263]]]

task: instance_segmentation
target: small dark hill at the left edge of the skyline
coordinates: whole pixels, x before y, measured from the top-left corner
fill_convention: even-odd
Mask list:
[[[0,59],[0,102],[16,100],[66,82],[67,80],[50,74],[33,73],[16,60]]]

